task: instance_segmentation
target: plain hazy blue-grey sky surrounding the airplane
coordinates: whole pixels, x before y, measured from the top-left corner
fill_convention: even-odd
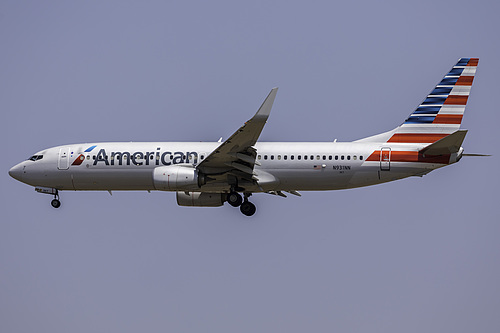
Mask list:
[[[0,2],[1,332],[499,332],[498,1]],[[404,121],[479,57],[460,163],[374,187],[178,207],[10,178],[44,148],[262,141]]]

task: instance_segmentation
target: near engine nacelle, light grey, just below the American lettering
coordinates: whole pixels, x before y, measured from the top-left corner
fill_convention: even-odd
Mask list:
[[[205,184],[205,177],[192,165],[168,165],[153,171],[153,183],[159,191],[189,191]]]

